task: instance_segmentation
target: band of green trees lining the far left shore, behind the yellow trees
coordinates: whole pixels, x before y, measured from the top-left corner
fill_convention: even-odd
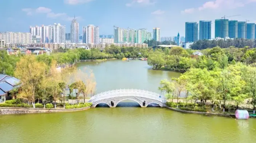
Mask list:
[[[51,53],[50,55],[38,55],[36,60],[46,64],[50,67],[53,61],[56,61],[56,66],[66,66],[67,64],[73,64],[78,60],[106,60],[106,59],[122,59],[126,58],[141,58],[148,57],[152,48],[140,48],[140,47],[106,47],[103,51],[99,49],[86,50],[83,48],[78,49],[64,49],[57,53]],[[16,63],[18,63],[25,55],[8,55],[6,51],[0,51],[0,74],[14,75]],[[26,57],[26,56],[25,56]]]

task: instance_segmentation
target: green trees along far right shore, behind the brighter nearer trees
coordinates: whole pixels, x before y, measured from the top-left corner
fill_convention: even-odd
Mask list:
[[[190,68],[225,69],[229,64],[236,64],[237,62],[246,65],[256,62],[256,49],[250,49],[249,47],[241,49],[214,47],[199,51],[203,53],[202,56],[193,55],[193,52],[196,52],[196,50],[185,50],[181,47],[156,49],[155,52],[149,53],[147,62],[153,69],[176,71],[186,71]]]

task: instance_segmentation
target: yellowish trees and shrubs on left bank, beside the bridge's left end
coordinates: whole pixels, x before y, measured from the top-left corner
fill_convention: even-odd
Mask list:
[[[78,89],[78,93],[74,93],[75,97],[84,99],[85,103],[86,96],[93,94],[95,91],[96,82],[92,71],[89,74],[87,72],[77,74],[75,73],[75,67],[57,71],[56,64],[57,61],[55,60],[51,60],[51,63],[38,61],[38,57],[34,55],[22,56],[16,63],[14,71],[14,76],[21,80],[21,86],[13,90],[18,99],[6,101],[0,107],[32,106],[34,108],[51,108],[51,105],[54,105],[54,108],[56,108],[58,107],[56,101],[59,99],[64,101],[65,96],[72,95],[74,89]],[[78,78],[72,80],[75,77],[74,75],[80,76],[79,80],[77,80]],[[71,81],[74,81],[74,83],[71,83]],[[66,92],[68,86],[69,93]],[[80,97],[80,93],[83,94],[83,97]],[[64,104],[62,105],[64,107]],[[74,107],[67,105],[67,108],[85,107],[87,105],[81,104]]]

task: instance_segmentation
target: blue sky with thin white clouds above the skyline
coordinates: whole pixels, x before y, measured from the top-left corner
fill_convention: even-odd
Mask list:
[[[256,22],[256,0],[3,0],[0,31],[28,32],[32,25],[66,25],[77,17],[82,26],[99,26],[100,34],[113,34],[122,28],[161,28],[161,36],[185,35],[185,22],[212,20],[224,15],[231,20]]]

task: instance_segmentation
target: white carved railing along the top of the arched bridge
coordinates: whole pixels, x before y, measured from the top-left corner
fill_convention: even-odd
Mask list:
[[[102,99],[122,97],[122,96],[145,97],[145,98],[160,101],[162,103],[166,102],[165,97],[160,94],[146,91],[146,90],[136,90],[136,89],[120,89],[120,90],[110,90],[110,91],[102,92],[91,97],[89,102],[96,102]]]

